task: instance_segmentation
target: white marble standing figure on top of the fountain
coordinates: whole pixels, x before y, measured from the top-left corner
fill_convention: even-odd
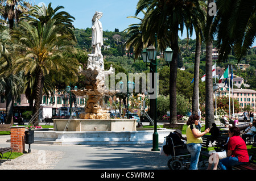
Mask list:
[[[92,54],[101,56],[101,46],[103,45],[103,29],[99,19],[103,13],[96,11],[92,19]]]

